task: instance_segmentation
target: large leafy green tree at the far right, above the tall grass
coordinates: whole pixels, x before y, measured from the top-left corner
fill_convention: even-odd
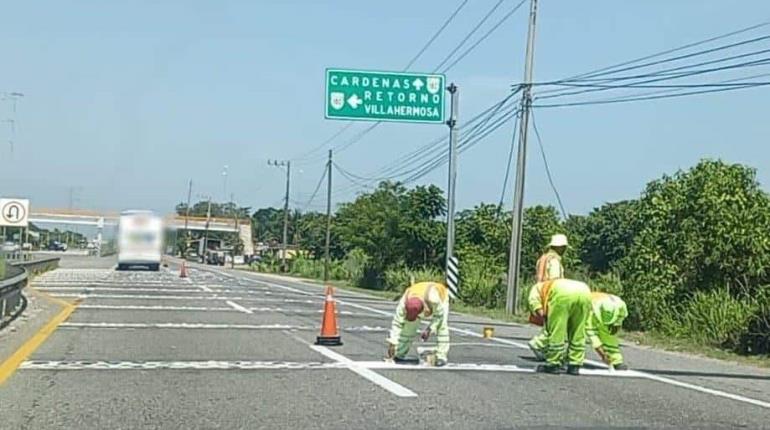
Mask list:
[[[697,291],[737,295],[770,282],[770,200],[753,169],[701,161],[647,185],[639,232],[619,263],[630,323],[655,328]]]

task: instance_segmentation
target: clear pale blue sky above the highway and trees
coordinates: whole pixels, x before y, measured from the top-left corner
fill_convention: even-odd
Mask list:
[[[6,2],[0,26],[0,189],[37,207],[171,211],[193,194],[275,205],[283,172],[268,159],[305,154],[344,122],[323,117],[327,67],[400,70],[458,1]],[[507,0],[490,22],[517,1]],[[431,71],[494,0],[470,0],[410,69]],[[447,74],[460,86],[460,121],[522,79],[525,6]],[[770,18],[770,2],[541,0],[535,79],[545,81],[704,39]],[[764,29],[754,34],[770,33]],[[720,157],[770,183],[770,89],[536,112],[569,212],[632,198],[644,184]],[[340,145],[368,124],[356,124]],[[440,125],[383,124],[336,155],[366,176],[446,133]],[[458,207],[500,196],[510,127],[459,160]],[[310,197],[323,153],[292,169],[292,200]],[[532,146],[527,204],[555,203]],[[355,190],[335,176],[350,199]],[[424,178],[444,187],[446,168]],[[338,188],[335,186],[334,188]],[[510,190],[510,187],[509,187]],[[322,195],[310,208],[322,208]],[[510,196],[506,197],[510,204]],[[304,205],[293,205],[303,207]]]

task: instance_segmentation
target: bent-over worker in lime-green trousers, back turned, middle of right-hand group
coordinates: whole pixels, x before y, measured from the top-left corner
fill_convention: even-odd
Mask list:
[[[586,319],[591,312],[591,290],[583,282],[554,279],[538,282],[529,292],[533,317],[543,322],[545,364],[539,372],[577,375],[585,360]],[[565,360],[566,359],[566,360]]]

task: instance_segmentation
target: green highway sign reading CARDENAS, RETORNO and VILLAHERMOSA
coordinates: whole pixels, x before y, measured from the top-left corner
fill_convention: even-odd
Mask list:
[[[444,122],[444,75],[326,69],[326,118]]]

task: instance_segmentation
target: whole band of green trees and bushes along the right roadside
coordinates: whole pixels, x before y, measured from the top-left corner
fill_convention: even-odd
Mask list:
[[[433,185],[382,182],[340,205],[332,220],[331,278],[396,293],[411,279],[441,280],[445,213],[443,192]],[[252,218],[260,240],[279,241],[282,210],[260,209]],[[496,204],[458,214],[458,306],[500,313],[510,224],[510,213]],[[289,243],[303,251],[289,273],[322,277],[325,226],[323,214],[291,212]],[[555,233],[569,237],[568,277],[626,300],[626,330],[744,355],[770,353],[770,198],[754,169],[703,160],[648,183],[635,199],[567,219],[551,206],[526,208],[525,285]],[[270,256],[253,268],[280,269]]]

